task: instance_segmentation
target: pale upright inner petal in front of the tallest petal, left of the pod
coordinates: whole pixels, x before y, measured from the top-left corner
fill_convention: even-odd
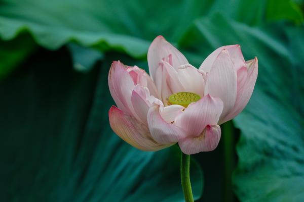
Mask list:
[[[160,63],[156,72],[155,84],[159,92],[159,97],[165,105],[168,105],[167,99],[172,93],[184,90],[178,80],[176,70],[167,62]]]

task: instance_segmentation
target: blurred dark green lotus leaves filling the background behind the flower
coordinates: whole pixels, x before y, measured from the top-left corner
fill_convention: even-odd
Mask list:
[[[0,200],[183,201],[176,147],[108,124],[113,60],[147,70],[163,35],[196,67],[240,44],[259,75],[217,149],[193,156],[197,201],[304,200],[304,2],[0,1]]]

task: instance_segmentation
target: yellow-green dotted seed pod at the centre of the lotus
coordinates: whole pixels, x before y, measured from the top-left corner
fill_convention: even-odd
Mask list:
[[[176,92],[170,95],[169,103],[188,107],[190,103],[197,102],[200,98],[200,95],[193,92]]]

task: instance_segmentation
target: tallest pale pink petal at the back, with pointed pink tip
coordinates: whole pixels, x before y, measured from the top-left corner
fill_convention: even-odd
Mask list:
[[[171,55],[171,56],[170,56]],[[158,36],[154,39],[148,49],[148,65],[150,76],[155,80],[156,70],[159,63],[170,58],[168,62],[177,70],[180,65],[187,64],[187,59],[171,45],[163,36]]]

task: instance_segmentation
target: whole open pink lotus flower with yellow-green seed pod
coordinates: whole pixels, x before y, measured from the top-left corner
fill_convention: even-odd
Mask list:
[[[199,69],[166,39],[148,49],[148,75],[137,66],[112,63],[109,110],[112,130],[132,146],[156,151],[178,142],[184,154],[216,148],[219,125],[247,105],[257,78],[257,58],[246,61],[240,45],[217,48]]]

